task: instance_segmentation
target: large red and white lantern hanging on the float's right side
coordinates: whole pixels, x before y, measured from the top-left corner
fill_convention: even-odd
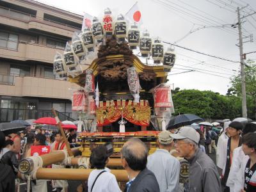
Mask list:
[[[154,109],[157,116],[174,113],[171,88],[168,84],[159,84],[153,88]]]

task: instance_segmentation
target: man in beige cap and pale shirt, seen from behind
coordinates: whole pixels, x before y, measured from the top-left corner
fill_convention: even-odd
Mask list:
[[[180,191],[179,174],[180,163],[170,155],[174,143],[169,131],[158,134],[159,148],[148,156],[147,168],[156,175],[160,191]]]

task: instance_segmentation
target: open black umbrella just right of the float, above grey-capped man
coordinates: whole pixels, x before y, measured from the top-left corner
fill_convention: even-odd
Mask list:
[[[177,129],[182,126],[191,125],[195,122],[204,121],[200,116],[193,114],[183,114],[178,116],[173,116],[170,119],[167,129]]]

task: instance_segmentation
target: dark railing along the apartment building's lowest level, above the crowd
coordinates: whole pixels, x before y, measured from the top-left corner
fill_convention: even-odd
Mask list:
[[[61,121],[74,121],[72,113],[56,111]],[[36,110],[36,109],[8,109],[0,108],[0,122],[11,122],[12,120],[37,119],[41,117],[52,116],[51,110]]]

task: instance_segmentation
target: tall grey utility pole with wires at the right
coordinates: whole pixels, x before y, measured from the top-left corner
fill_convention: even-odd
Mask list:
[[[237,19],[238,19],[239,51],[240,51],[240,65],[241,65],[242,111],[243,111],[243,117],[247,118],[244,59],[243,59],[243,38],[242,38],[241,18],[240,18],[239,7],[237,7]]]

